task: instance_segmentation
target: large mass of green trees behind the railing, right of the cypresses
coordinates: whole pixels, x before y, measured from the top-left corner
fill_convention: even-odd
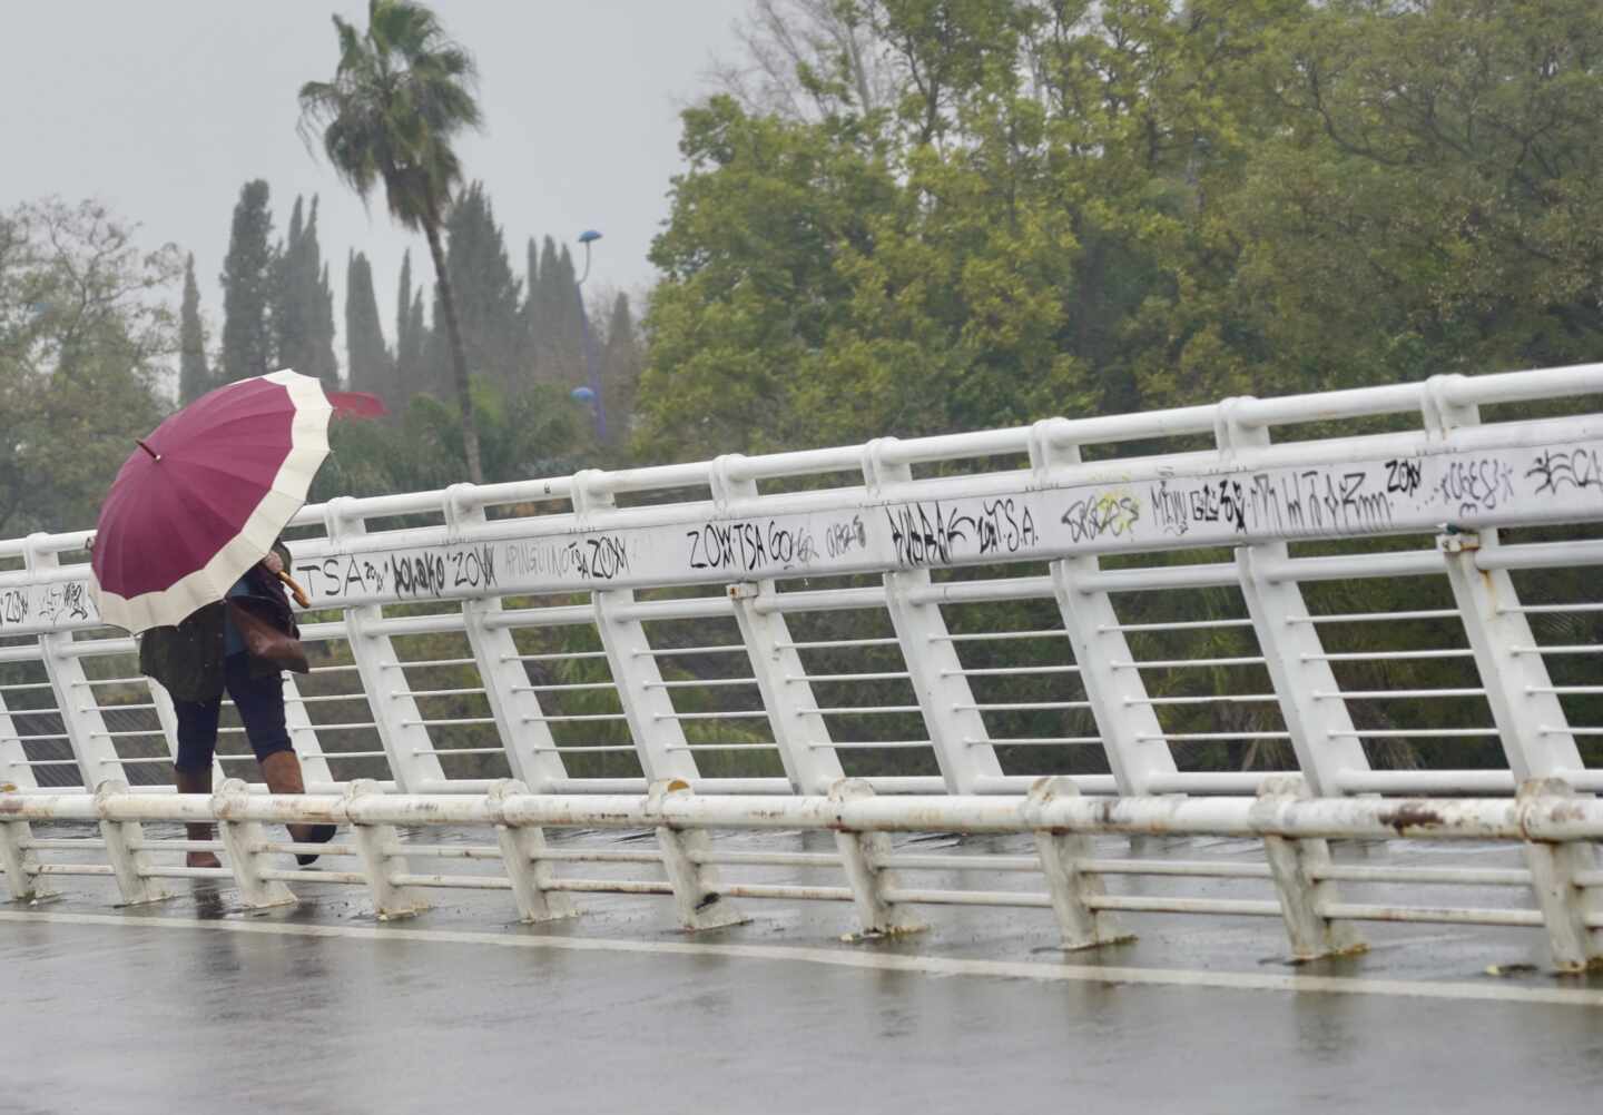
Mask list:
[[[726,82],[684,112],[688,168],[652,248],[665,279],[646,319],[633,425],[641,457],[1597,359],[1597,3],[758,8],[777,21],[747,34],[795,70],[771,80],[765,58],[749,59],[734,70],[747,85]],[[851,53],[830,45],[858,34],[867,38],[854,50],[872,66],[853,67]],[[854,72],[893,88],[864,96]],[[1589,596],[1563,580],[1532,575],[1521,593],[1531,602]],[[1443,585],[1414,582],[1310,585],[1305,596],[1339,614],[1451,604]],[[1241,609],[1228,590],[1120,599],[1132,623]],[[967,620],[959,610],[951,622],[963,630]],[[1055,626],[1050,609],[1028,606],[994,607],[984,622]],[[821,623],[837,638],[866,631],[854,617]],[[1441,647],[1462,633],[1422,622],[1321,634],[1332,652],[1366,652],[1377,638]],[[1595,631],[1558,641],[1589,638]],[[1138,633],[1132,649],[1143,660],[1258,654],[1242,628]],[[987,654],[976,647],[965,662],[987,665]],[[1039,654],[1048,665],[1048,644]],[[1573,668],[1553,665],[1582,684],[1584,666]],[[1476,684],[1460,660],[1343,662],[1337,673],[1356,690]],[[1262,666],[1143,676],[1159,697],[1268,684]],[[1007,700],[1050,692],[1045,679],[1008,684]],[[1420,705],[1358,700],[1353,714],[1377,731],[1486,723],[1473,700]],[[999,734],[1095,727],[1079,713],[1015,719],[997,723]],[[1266,703],[1175,706],[1164,726],[1284,727]],[[1181,761],[1199,766],[1284,761],[1273,740],[1189,747]],[[1500,763],[1491,742],[1367,747],[1380,766]],[[1074,753],[1029,758],[1071,769]]]

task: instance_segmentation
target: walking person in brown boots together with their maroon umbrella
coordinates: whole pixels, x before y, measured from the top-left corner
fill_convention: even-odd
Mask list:
[[[101,503],[87,543],[90,594],[103,623],[143,633],[139,671],[173,698],[180,793],[212,791],[224,692],[268,790],[305,793],[281,674],[306,670],[306,655],[281,580],[301,607],[311,598],[285,574],[282,533],[329,455],[335,413],[377,418],[385,409],[359,391],[324,391],[293,368],[224,383],[136,437]],[[297,844],[333,838],[333,825],[289,830]],[[212,831],[189,827],[191,839]],[[189,852],[186,862],[218,867],[212,852]]]

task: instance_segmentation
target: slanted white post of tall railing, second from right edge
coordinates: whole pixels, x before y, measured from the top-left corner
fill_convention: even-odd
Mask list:
[[[1218,404],[1215,441],[1225,457],[1238,449],[1270,444],[1268,429],[1236,420],[1242,402],[1247,399]],[[1294,580],[1276,577],[1276,566],[1289,559],[1290,549],[1284,541],[1238,546],[1236,574],[1297,767],[1313,793],[1340,795],[1342,775],[1367,771],[1369,756],[1353,734],[1353,718],[1347,700],[1339,695],[1342,687],[1324,657],[1319,631],[1308,622],[1302,588]]]

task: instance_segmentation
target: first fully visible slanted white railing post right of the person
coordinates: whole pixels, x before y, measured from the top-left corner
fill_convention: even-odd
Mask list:
[[[329,500],[325,529],[335,548],[367,533],[362,517],[351,514],[353,503],[351,497]],[[351,646],[356,673],[362,679],[362,690],[367,694],[367,706],[373,713],[378,740],[390,759],[396,788],[402,793],[423,793],[444,782],[446,772],[439,766],[439,756],[433,753],[428,729],[420,723],[423,716],[417,702],[404,695],[410,690],[410,684],[396,658],[394,644],[377,628],[382,618],[383,609],[378,604],[348,607],[346,641]]]

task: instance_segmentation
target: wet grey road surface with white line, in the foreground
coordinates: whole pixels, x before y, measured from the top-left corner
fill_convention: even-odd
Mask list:
[[[1140,854],[1258,862],[1250,841]],[[1127,915],[1137,942],[1066,955],[1044,910],[920,908],[925,932],[848,944],[843,904],[747,900],[749,924],[686,936],[654,897],[519,926],[510,896],[452,891],[380,923],[353,888],[247,912],[170,886],[141,908],[83,878],[0,904],[0,1112],[1592,1112],[1603,1086],[1603,976],[1548,972],[1531,931],[1364,926],[1371,952],[1294,968],[1268,918]]]

